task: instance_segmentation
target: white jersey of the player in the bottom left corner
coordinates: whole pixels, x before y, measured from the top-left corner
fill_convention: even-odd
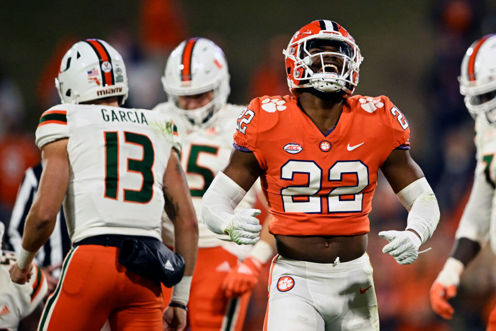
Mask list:
[[[19,322],[29,316],[47,294],[47,281],[34,265],[27,283],[10,280],[8,270],[16,261],[14,252],[0,251],[0,330],[15,331]]]

